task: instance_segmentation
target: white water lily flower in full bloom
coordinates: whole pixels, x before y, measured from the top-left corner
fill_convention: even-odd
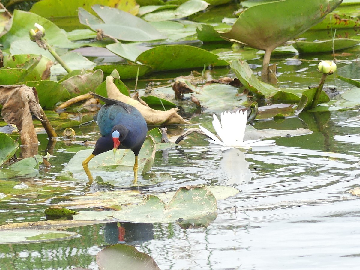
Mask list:
[[[249,149],[253,146],[267,146],[275,145],[274,140],[261,141],[258,140],[248,140],[244,141],[244,134],[247,122],[247,111],[245,112],[222,112],[220,116],[221,123],[214,113],[214,120],[212,125],[219,135],[220,139],[217,138],[212,132],[206,128],[199,126],[200,129],[208,135],[212,140],[208,140],[210,143],[222,145],[221,150],[226,150],[229,148],[245,148]]]

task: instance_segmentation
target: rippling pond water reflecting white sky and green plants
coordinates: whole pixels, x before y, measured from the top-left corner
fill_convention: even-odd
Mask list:
[[[330,56],[321,55],[321,58],[330,59]],[[285,58],[279,58],[278,62],[283,72],[279,77],[281,87],[306,87],[319,81],[316,62],[303,61],[300,66],[286,66]],[[303,72],[294,72],[303,68],[306,68]],[[351,88],[332,77],[327,86],[333,85],[340,91]],[[192,121],[206,123],[211,117],[211,113],[204,112]],[[203,222],[203,226],[124,225],[125,242],[152,256],[164,270],[356,269],[360,261],[359,200],[348,194],[348,190],[359,186],[359,112],[301,113],[298,118],[257,122],[255,127],[303,127],[313,133],[275,138],[276,146],[248,152],[209,148],[208,142],[195,134],[179,147],[157,152],[152,171],[170,172],[173,180],[145,191],[207,184],[230,185],[241,192],[219,201],[216,219]],[[178,127],[169,130],[169,133],[181,133]],[[95,125],[76,131],[78,135],[89,134],[94,140],[98,136]],[[43,153],[48,143],[46,135],[39,135],[39,140]],[[0,192],[12,186],[13,181],[19,191],[12,198],[0,200],[0,224],[44,220],[44,210],[51,203],[102,190],[82,182],[55,180],[57,172],[73,156],[64,153],[63,148],[66,148],[64,142],[58,141],[53,152],[57,157],[51,159],[50,169],[42,166],[34,177],[0,181]],[[29,190],[33,194],[22,195]],[[76,266],[98,269],[96,253],[123,236],[111,224],[69,231],[80,237],[50,243],[0,245],[0,269]]]

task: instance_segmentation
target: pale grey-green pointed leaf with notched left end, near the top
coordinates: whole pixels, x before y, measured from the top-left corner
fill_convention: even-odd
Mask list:
[[[93,10],[103,20],[79,8],[79,19],[91,29],[101,29],[104,34],[124,41],[150,41],[166,39],[153,26],[134,15],[115,8],[95,5]]]

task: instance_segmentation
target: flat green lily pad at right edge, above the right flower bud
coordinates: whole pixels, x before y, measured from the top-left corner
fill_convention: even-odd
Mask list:
[[[354,47],[359,43],[360,40],[355,39],[334,39],[334,49],[336,51],[342,50]],[[297,41],[293,46],[302,54],[325,53],[327,51],[333,51],[333,40],[321,40],[316,42]]]

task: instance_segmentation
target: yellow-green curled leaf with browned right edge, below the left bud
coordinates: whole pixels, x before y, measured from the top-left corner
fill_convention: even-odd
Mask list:
[[[36,54],[6,55],[4,66],[10,68],[26,68],[27,75],[23,81],[48,80],[50,77],[50,59]]]

